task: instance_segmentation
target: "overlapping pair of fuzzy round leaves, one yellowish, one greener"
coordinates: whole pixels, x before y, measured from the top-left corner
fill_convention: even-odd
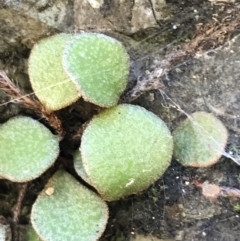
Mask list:
[[[29,58],[33,90],[49,111],[80,96],[102,107],[114,106],[126,88],[128,73],[126,50],[103,34],[57,34],[36,44]]]

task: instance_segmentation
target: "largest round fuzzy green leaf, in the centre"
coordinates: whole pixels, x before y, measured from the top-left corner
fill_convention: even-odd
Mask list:
[[[165,123],[146,109],[127,104],[95,116],[81,142],[91,184],[108,201],[137,193],[161,177],[172,149]]]

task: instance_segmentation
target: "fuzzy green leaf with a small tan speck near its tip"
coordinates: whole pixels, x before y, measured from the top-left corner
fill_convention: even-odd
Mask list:
[[[48,188],[52,195],[46,194]],[[31,213],[34,229],[47,241],[95,241],[107,219],[106,203],[64,171],[50,179]]]

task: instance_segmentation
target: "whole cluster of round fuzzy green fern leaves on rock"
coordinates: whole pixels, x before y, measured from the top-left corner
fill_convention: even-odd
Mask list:
[[[29,240],[97,240],[108,219],[103,200],[138,193],[159,179],[170,164],[173,142],[174,156],[183,165],[207,166],[220,158],[227,130],[212,115],[193,114],[174,131],[173,138],[155,114],[135,105],[117,105],[128,72],[129,57],[121,43],[102,34],[55,35],[32,50],[29,74],[43,105],[38,103],[36,113],[53,114],[80,96],[110,108],[87,122],[74,154],[77,173],[101,197],[65,171],[57,171],[33,205],[31,222],[36,232],[29,230]],[[29,117],[2,124],[0,176],[14,182],[39,177],[56,160],[58,142]]]

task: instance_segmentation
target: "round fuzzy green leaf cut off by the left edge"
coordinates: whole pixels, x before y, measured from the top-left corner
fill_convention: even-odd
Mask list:
[[[30,117],[15,117],[0,126],[0,176],[14,182],[39,177],[56,160],[58,139]]]

